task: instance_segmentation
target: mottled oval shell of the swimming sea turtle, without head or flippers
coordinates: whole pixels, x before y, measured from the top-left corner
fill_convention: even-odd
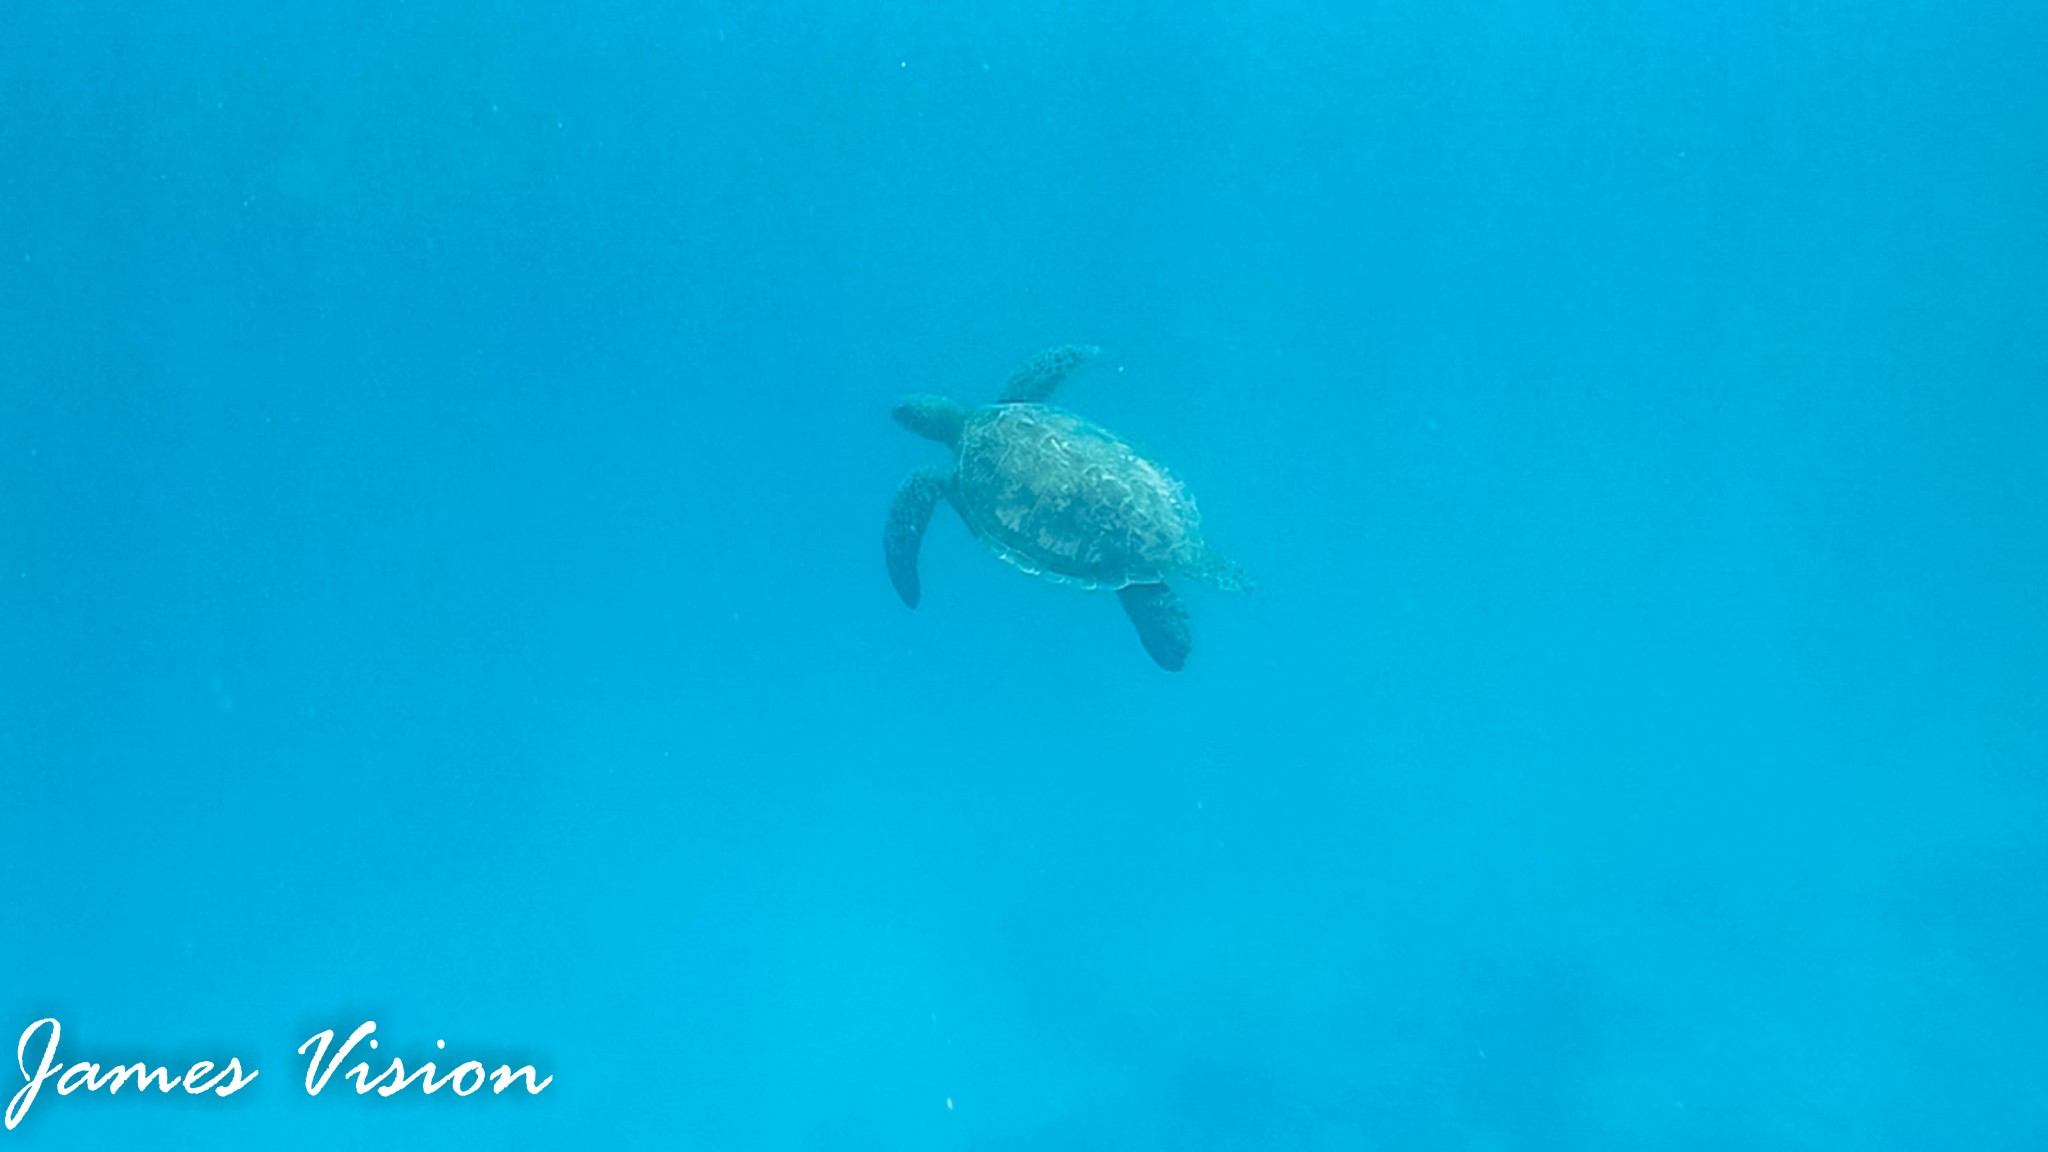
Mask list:
[[[1157,584],[1206,556],[1165,467],[1051,404],[969,412],[952,502],[995,556],[1063,584]]]

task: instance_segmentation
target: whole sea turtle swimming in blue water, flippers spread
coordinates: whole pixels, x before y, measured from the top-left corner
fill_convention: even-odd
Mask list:
[[[918,607],[918,547],[940,498],[995,556],[1034,576],[1112,590],[1145,652],[1167,670],[1188,662],[1188,609],[1167,588],[1190,576],[1245,590],[1235,564],[1202,541],[1194,498],[1116,433],[1047,404],[1102,348],[1067,344],[1024,363],[995,404],[905,396],[895,420],[952,449],[952,465],[920,467],[889,504],[889,580]]]

